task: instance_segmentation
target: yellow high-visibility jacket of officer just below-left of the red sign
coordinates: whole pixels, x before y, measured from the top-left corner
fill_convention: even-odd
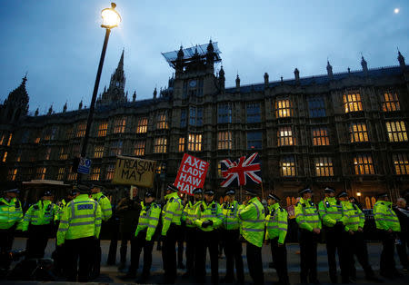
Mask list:
[[[165,200],[167,202],[162,210],[162,235],[166,235],[171,223],[175,223],[176,225],[180,226],[182,211],[184,209],[182,200],[177,195],[177,192],[172,192],[166,195]]]

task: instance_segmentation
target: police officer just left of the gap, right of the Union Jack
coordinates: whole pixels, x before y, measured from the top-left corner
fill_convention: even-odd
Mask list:
[[[288,229],[288,213],[280,207],[280,198],[270,193],[268,200],[271,201],[270,211],[265,218],[266,240],[271,243],[271,254],[273,264],[277,270],[278,283],[290,284],[287,271],[287,250],[285,248],[285,237]]]

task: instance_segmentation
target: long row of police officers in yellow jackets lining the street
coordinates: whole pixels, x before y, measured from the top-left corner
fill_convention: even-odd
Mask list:
[[[0,268],[9,270],[15,231],[27,232],[26,259],[41,259],[53,228],[56,226],[56,244],[53,257],[55,266],[66,280],[94,280],[100,274],[100,232],[112,216],[112,206],[100,184],[75,185],[60,203],[53,202],[53,193],[45,191],[41,199],[23,211],[17,189],[5,190],[0,198]],[[319,283],[317,279],[317,244],[326,244],[331,282],[352,283],[356,280],[354,259],[364,269],[366,280],[381,281],[375,276],[368,260],[364,240],[365,216],[353,197],[326,187],[324,200],[317,205],[312,201],[309,187],[298,192],[294,207],[300,245],[301,283]],[[262,262],[263,244],[270,244],[273,267],[278,282],[289,284],[287,271],[286,237],[288,213],[280,206],[280,197],[267,196],[264,205],[254,190],[247,189],[242,203],[235,200],[234,189],[224,192],[224,200],[214,199],[213,190],[196,188],[186,196],[174,185],[167,186],[165,202],[156,203],[155,192],[145,192],[144,199],[137,192],[121,200],[115,207],[121,217],[121,247],[118,270],[126,269],[128,241],[131,242],[131,261],[125,280],[136,278],[139,260],[144,251],[142,271],[137,282],[148,282],[155,242],[162,244],[165,283],[177,280],[177,265],[185,269],[183,278],[205,282],[206,253],[210,254],[212,283],[244,283],[243,243],[251,279],[264,283]],[[394,263],[394,247],[403,269],[408,269],[409,211],[405,200],[393,206],[387,193],[377,195],[374,221],[383,249],[380,275],[386,279],[402,276]],[[176,244],[184,247],[186,266],[176,258]],[[219,280],[219,245],[223,244],[226,273]],[[183,252],[183,251],[182,251]],[[336,255],[341,269],[338,280]],[[235,274],[234,274],[235,273]]]

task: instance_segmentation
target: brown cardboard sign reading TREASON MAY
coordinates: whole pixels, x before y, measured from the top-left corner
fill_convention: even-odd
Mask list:
[[[118,156],[112,183],[150,188],[154,184],[155,171],[155,161]]]

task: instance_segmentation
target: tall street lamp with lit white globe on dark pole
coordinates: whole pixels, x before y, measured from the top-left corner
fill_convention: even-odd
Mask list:
[[[85,158],[85,155],[86,155],[86,146],[88,144],[89,132],[91,129],[91,123],[93,121],[93,116],[94,116],[96,93],[98,92],[99,81],[101,79],[101,72],[102,72],[102,68],[104,65],[105,52],[106,52],[106,46],[108,45],[109,34],[111,34],[111,29],[115,28],[115,26],[118,26],[119,23],[121,23],[121,16],[118,14],[118,12],[115,11],[115,7],[116,7],[116,4],[111,3],[111,8],[106,8],[101,11],[101,16],[103,18],[103,24],[101,25],[101,27],[105,28],[105,40],[104,40],[104,45],[103,45],[103,49],[101,52],[101,58],[99,59],[98,71],[96,72],[94,92],[93,92],[93,97],[91,99],[91,104],[89,106],[88,119],[86,120],[84,141],[83,141],[83,146],[81,148],[81,157],[83,158]],[[78,182],[81,181],[80,173],[78,173],[77,181]]]

